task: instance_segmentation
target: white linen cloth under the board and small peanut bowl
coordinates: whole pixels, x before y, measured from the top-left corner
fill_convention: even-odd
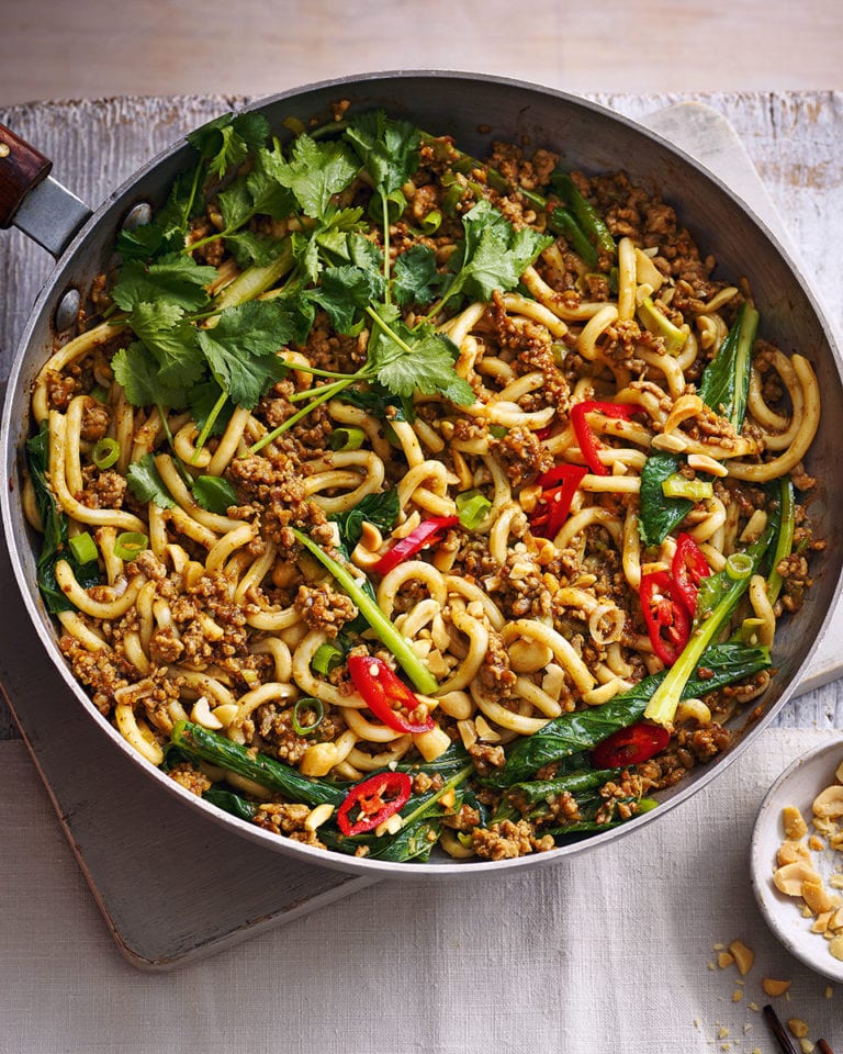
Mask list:
[[[595,852],[503,879],[382,882],[167,974],[122,958],[24,745],[0,743],[0,1052],[767,1054],[769,1001],[843,1052],[843,987],[777,943],[749,873],[767,787],[835,735],[767,729]],[[743,985],[716,965],[735,939],[756,954]],[[764,976],[790,979],[788,997]]]

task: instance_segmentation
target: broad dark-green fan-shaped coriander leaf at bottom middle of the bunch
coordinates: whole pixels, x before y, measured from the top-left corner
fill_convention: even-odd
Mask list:
[[[286,375],[278,358],[292,337],[289,312],[271,300],[227,307],[216,326],[199,330],[199,343],[217,383],[238,406],[251,408],[272,381]]]

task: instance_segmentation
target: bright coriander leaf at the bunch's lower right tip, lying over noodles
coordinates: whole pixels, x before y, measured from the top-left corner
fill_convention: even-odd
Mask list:
[[[454,372],[458,351],[448,337],[427,324],[411,329],[394,305],[381,304],[370,316],[379,324],[369,338],[368,362],[381,384],[396,395],[439,393],[460,406],[475,401],[471,385]]]

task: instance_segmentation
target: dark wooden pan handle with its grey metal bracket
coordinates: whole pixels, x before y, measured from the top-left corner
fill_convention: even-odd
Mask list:
[[[0,228],[14,224],[59,257],[91,210],[49,175],[53,161],[0,124]]]

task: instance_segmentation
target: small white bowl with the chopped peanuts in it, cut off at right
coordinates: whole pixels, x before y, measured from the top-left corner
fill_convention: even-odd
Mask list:
[[[758,810],[755,899],[800,962],[843,983],[843,738],[798,758]]]

